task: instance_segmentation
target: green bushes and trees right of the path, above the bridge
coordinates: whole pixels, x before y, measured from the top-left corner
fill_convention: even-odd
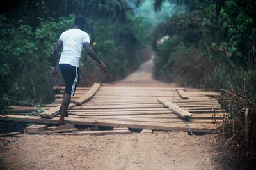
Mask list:
[[[251,5],[250,9],[255,6],[251,1],[245,2]],[[173,16],[159,24],[152,33],[155,61],[162,60],[155,62],[155,77],[164,76],[169,79],[169,76],[177,73],[182,85],[218,90],[227,87],[228,81],[236,72],[234,70],[239,67],[244,70],[255,69],[255,15],[253,11],[243,8],[244,3],[227,1],[217,18],[215,4],[206,1],[200,4],[205,8],[197,8],[199,11]],[[157,42],[166,35],[170,39],[177,36],[190,52],[186,53],[184,50],[177,57],[173,53],[180,49],[175,48],[175,45],[169,43],[169,47],[164,49],[163,45],[157,46]],[[195,53],[197,54],[194,55]],[[175,60],[170,64],[169,59]],[[163,73],[162,66],[168,67],[169,72]],[[187,71],[187,67],[193,71]]]

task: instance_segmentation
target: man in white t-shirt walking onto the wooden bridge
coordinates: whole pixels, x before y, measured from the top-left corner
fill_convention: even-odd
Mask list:
[[[58,74],[56,64],[58,59],[60,59],[59,67],[65,80],[65,92],[60,108],[61,115],[59,124],[65,123],[64,117],[68,116],[67,110],[71,95],[74,96],[77,83],[79,82],[79,61],[83,47],[86,49],[88,55],[98,62],[103,71],[106,71],[107,69],[106,65],[92,50],[89,35],[83,31],[84,25],[85,18],[83,16],[77,16],[74,21],[74,27],[60,35],[52,55],[52,77],[56,78]],[[63,50],[61,52],[61,57],[59,57],[61,48],[63,48]]]

